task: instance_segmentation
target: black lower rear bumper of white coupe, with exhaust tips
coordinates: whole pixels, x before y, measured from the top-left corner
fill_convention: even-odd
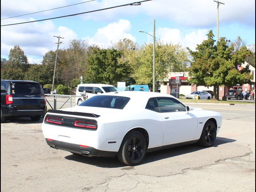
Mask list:
[[[47,138],[46,138],[46,143],[54,149],[65,150],[71,153],[81,154],[83,156],[89,156],[89,157],[92,157],[92,156],[114,157],[117,154],[117,152],[102,151],[102,150],[97,150],[90,146],[83,147],[78,144],[72,144],[72,143],[56,141],[56,140],[48,140]]]

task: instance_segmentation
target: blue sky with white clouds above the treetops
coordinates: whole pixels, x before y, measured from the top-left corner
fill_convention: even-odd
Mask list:
[[[135,2],[133,0],[1,0],[1,25],[41,20],[76,14]],[[68,6],[71,4],[77,4]],[[238,36],[246,45],[255,44],[255,1],[220,1],[220,37],[234,41]],[[68,6],[65,8],[3,19],[22,14]],[[129,38],[139,45],[152,42],[153,20],[156,38],[192,50],[206,39],[209,30],[216,34],[217,3],[213,0],[151,0],[140,6],[124,6],[78,16],[1,26],[1,58],[19,45],[30,63],[40,63],[46,52],[56,50],[58,39],[64,37],[61,48],[68,48],[73,39],[108,48],[120,39]]]

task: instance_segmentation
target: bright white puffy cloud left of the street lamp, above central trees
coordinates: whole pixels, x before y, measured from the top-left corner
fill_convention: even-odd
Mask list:
[[[128,20],[120,19],[118,22],[113,22],[105,27],[99,28],[94,36],[87,36],[86,39],[89,44],[96,44],[103,48],[107,48],[112,44],[124,38],[136,42],[136,38],[130,34],[132,25]]]

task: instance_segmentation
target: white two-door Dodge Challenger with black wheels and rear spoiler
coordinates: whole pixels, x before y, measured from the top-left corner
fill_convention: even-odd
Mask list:
[[[156,92],[110,92],[78,106],[48,110],[42,123],[47,144],[84,156],[118,156],[140,164],[146,152],[198,142],[210,147],[220,130],[218,112],[190,108]]]

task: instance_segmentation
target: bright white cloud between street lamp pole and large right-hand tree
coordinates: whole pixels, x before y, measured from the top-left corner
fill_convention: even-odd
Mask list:
[[[183,34],[179,29],[172,28],[158,28],[156,32],[163,42],[180,44],[182,47],[189,47],[192,50],[195,50],[197,44],[207,39],[207,33],[207,29],[199,29]]]

